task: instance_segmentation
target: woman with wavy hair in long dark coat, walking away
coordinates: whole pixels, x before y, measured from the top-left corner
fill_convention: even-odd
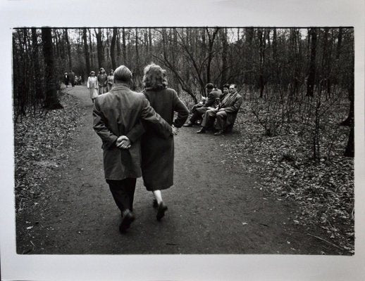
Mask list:
[[[166,72],[159,65],[152,63],[144,68],[144,95],[151,107],[173,126],[174,134],[189,116],[189,110],[182,103],[173,89],[167,88]],[[173,121],[174,112],[178,117]],[[142,177],[147,190],[154,193],[154,207],[157,207],[157,220],[161,220],[167,210],[163,203],[161,190],[173,185],[173,136],[163,139],[146,127],[142,136]]]

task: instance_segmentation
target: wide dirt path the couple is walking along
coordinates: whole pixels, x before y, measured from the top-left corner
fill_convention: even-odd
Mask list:
[[[101,140],[92,130],[89,94],[85,86],[68,93],[82,100],[82,126],[71,147],[55,155],[62,165],[44,186],[45,207],[22,214],[22,221],[37,223],[29,235],[18,235],[19,254],[337,253],[309,235],[320,230],[295,224],[293,202],[278,201],[259,189],[259,178],[225,162],[223,142],[239,132],[216,137],[197,135],[197,128],[183,128],[175,138],[175,185],[163,192],[166,217],[156,221],[152,195],[139,179],[137,219],[120,235],[120,213],[104,181]]]

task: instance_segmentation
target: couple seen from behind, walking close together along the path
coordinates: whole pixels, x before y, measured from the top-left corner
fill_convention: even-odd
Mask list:
[[[130,90],[132,72],[120,65],[114,86],[94,100],[94,130],[103,143],[104,174],[120,209],[120,233],[135,220],[133,198],[136,179],[153,192],[158,221],[167,210],[161,190],[173,185],[173,135],[189,112],[173,89],[167,88],[166,72],[159,66],[144,68],[144,91]],[[174,112],[178,115],[173,120]]]

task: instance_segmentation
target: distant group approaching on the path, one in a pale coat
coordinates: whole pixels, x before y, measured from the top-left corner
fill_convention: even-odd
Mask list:
[[[94,98],[107,93],[111,90],[114,84],[114,70],[110,70],[109,75],[105,73],[103,67],[100,68],[99,73],[95,76],[95,72],[90,72],[90,76],[87,78],[87,89],[90,91],[90,98],[94,103]]]

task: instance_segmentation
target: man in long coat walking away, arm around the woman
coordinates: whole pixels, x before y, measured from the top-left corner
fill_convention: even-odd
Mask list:
[[[121,233],[129,228],[136,178],[142,176],[140,136],[142,122],[147,122],[163,138],[172,134],[171,126],[157,115],[142,93],[129,88],[132,72],[121,65],[114,72],[115,86],[94,100],[94,130],[104,150],[104,174],[111,194],[122,213]],[[126,142],[123,150],[120,144]]]

